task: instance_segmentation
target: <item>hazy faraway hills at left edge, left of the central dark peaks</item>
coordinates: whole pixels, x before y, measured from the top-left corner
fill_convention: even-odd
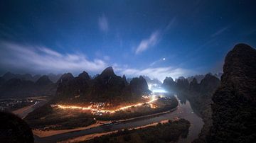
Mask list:
[[[0,97],[54,96],[55,82],[62,74],[32,76],[31,74],[13,74],[6,72],[0,77]]]

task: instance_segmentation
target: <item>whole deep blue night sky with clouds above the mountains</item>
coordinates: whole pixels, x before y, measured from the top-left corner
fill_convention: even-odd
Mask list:
[[[255,1],[0,2],[0,75],[218,73],[239,42],[256,47]]]

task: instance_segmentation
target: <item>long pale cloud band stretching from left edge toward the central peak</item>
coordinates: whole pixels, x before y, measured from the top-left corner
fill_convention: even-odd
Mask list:
[[[0,42],[0,67],[28,71],[101,71],[107,64],[102,59],[89,60],[82,54],[61,54],[48,47]]]

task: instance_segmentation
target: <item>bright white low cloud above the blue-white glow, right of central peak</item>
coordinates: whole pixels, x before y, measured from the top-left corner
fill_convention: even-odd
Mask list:
[[[146,69],[119,69],[120,74],[125,74],[126,76],[140,76],[146,75],[151,79],[157,78],[160,81],[164,81],[166,76],[171,76],[172,78],[178,78],[178,76],[189,76],[193,74],[193,71],[182,68],[174,67],[157,67],[157,68],[146,68]]]

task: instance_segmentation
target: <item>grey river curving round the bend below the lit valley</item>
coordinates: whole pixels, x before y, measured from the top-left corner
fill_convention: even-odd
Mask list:
[[[36,137],[35,142],[58,142],[58,141],[65,141],[70,138],[80,137],[83,135],[91,135],[95,133],[102,133],[102,132],[110,132],[115,130],[122,130],[125,128],[134,128],[134,127],[141,127],[144,125],[149,125],[154,122],[160,122],[161,120],[168,120],[174,118],[184,118],[191,122],[191,127],[189,128],[188,137],[185,139],[179,139],[178,142],[186,143],[192,142],[193,139],[198,137],[198,134],[201,132],[201,128],[203,127],[203,120],[196,114],[196,111],[191,108],[191,104],[189,101],[182,98],[181,96],[176,96],[178,99],[178,107],[176,110],[172,111],[171,113],[166,113],[158,116],[154,116],[151,118],[141,118],[135,120],[129,120],[125,122],[119,122],[115,125],[101,125],[99,127],[92,127],[87,130],[80,130],[74,132],[66,132],[59,135],[53,135],[49,137]]]

